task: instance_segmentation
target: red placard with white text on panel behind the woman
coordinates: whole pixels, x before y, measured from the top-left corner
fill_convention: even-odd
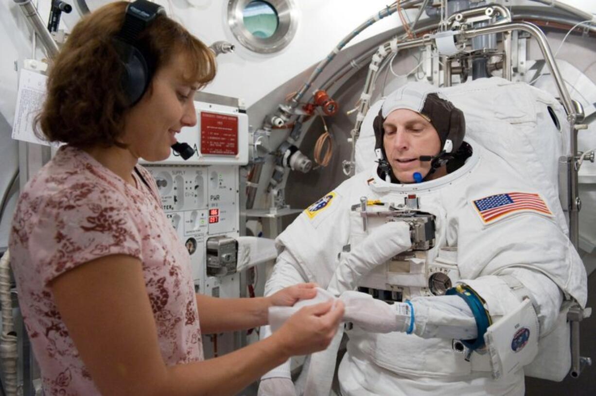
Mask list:
[[[238,154],[238,117],[201,111],[201,154]]]

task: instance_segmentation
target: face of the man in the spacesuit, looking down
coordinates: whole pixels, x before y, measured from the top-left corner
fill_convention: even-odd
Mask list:
[[[383,129],[383,147],[395,177],[402,183],[413,183],[415,172],[425,177],[430,171],[430,161],[419,158],[439,154],[441,145],[432,124],[415,111],[400,108],[389,113]]]

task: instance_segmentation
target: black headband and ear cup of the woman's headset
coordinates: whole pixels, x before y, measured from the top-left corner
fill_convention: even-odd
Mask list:
[[[151,82],[155,71],[155,60],[146,48],[138,43],[141,32],[157,15],[166,15],[166,10],[147,0],[136,0],[126,6],[122,29],[114,38],[114,45],[122,64],[122,89],[128,106],[141,99]]]

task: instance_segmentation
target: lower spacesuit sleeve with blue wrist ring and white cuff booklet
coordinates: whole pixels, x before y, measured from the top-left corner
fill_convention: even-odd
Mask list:
[[[539,338],[557,319],[562,302],[558,286],[528,267],[508,267],[499,275],[460,282],[455,289],[473,311],[476,301],[479,334],[474,340],[462,341],[468,356],[476,348],[488,351],[495,379],[532,363],[539,351]]]

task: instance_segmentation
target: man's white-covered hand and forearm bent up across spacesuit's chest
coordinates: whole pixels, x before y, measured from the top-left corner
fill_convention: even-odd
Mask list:
[[[334,295],[354,290],[362,276],[411,246],[408,223],[389,222],[376,227],[364,241],[342,257],[327,290]]]

